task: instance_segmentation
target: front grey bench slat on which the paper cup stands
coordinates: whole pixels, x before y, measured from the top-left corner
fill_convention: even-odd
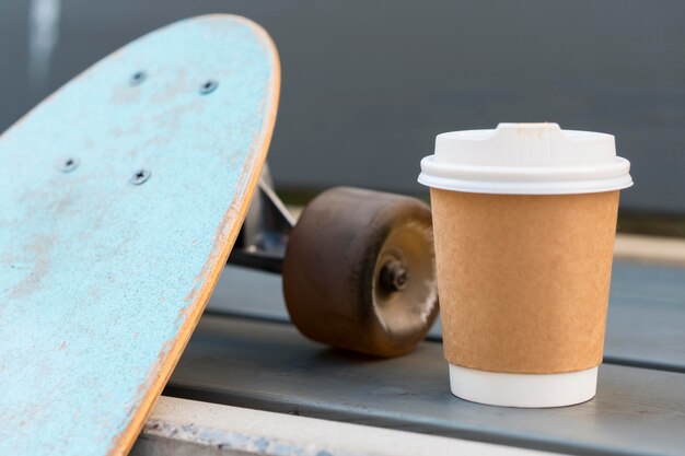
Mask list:
[[[685,375],[604,365],[599,396],[543,410],[449,393],[439,343],[378,360],[310,342],[290,325],[206,315],[165,395],[574,454],[682,454]]]

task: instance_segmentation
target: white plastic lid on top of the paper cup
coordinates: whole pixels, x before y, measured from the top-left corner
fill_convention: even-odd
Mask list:
[[[614,137],[558,124],[500,124],[438,135],[419,183],[476,194],[591,194],[630,187],[630,163]]]

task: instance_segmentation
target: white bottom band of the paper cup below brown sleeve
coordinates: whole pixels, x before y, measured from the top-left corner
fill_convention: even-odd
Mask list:
[[[562,374],[509,374],[450,364],[452,394],[472,402],[502,407],[572,406],[596,394],[597,367]]]

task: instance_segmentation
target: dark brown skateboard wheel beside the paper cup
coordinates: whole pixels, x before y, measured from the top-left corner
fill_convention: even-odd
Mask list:
[[[415,198],[323,192],[293,229],[282,273],[293,324],[333,347],[403,354],[438,315],[431,213]]]

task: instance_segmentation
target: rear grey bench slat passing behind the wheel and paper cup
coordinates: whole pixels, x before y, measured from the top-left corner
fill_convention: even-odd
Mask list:
[[[280,276],[227,267],[209,312],[288,321]],[[605,362],[685,373],[685,269],[614,264]],[[430,338],[440,340],[439,323]]]

